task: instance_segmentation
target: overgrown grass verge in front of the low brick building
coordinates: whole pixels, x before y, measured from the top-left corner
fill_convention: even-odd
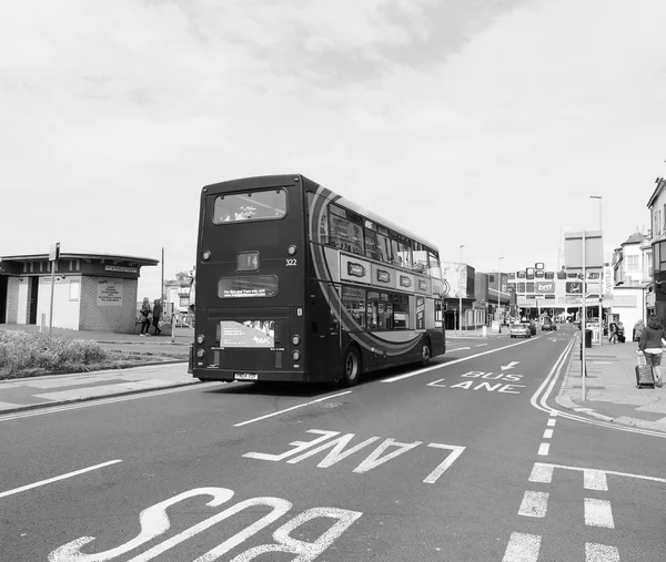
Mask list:
[[[0,331],[0,379],[124,369],[183,359],[176,354],[117,351],[97,341],[27,331]]]

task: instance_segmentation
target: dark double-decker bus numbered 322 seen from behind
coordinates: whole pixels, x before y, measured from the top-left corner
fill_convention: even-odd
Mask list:
[[[445,352],[420,236],[302,175],[206,185],[199,221],[195,378],[351,386]]]

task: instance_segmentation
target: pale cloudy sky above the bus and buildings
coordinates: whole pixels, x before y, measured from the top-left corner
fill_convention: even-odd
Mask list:
[[[601,195],[609,253],[666,175],[664,21],[663,0],[6,3],[0,256],[164,248],[173,278],[203,185],[283,173],[477,272],[555,269]]]

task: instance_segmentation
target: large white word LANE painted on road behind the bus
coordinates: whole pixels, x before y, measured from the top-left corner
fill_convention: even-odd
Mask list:
[[[333,464],[346,459],[347,457],[351,457],[352,454],[382,439],[379,436],[373,436],[364,441],[361,441],[360,443],[354,445],[351,448],[347,448],[352,439],[354,439],[355,433],[346,433],[341,436],[340,431],[326,431],[322,429],[309,429],[306,432],[319,435],[320,437],[311,441],[293,441],[289,443],[292,449],[287,449],[281,453],[251,451],[243,454],[243,457],[248,459],[258,459],[271,462],[280,462],[286,460],[289,464],[295,464],[296,462],[301,462],[310,457],[323,453],[330,449],[330,451],[325,453],[324,458],[316,464],[317,468],[330,468]],[[352,472],[357,474],[369,472],[372,469],[375,469],[421,445],[423,445],[423,441],[402,443],[393,438],[384,439],[352,470]],[[427,447],[448,451],[444,460],[441,461],[423,480],[424,483],[434,484],[440,477],[460,458],[465,450],[465,447],[444,443],[428,443]],[[366,451],[369,450],[370,449],[366,449]],[[357,457],[356,461],[359,459],[360,458]]]

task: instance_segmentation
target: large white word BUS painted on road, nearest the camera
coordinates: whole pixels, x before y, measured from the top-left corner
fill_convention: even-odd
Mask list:
[[[103,552],[97,553],[83,553],[81,548],[93,542],[94,537],[80,537],[73,541],[70,541],[49,554],[49,562],[72,562],[79,561],[97,561],[105,562],[115,560],[119,558],[125,559],[125,554],[132,551],[137,551],[140,546],[143,546],[150,541],[153,541],[160,535],[163,535],[171,528],[171,521],[167,513],[167,508],[180,503],[181,501],[191,500],[191,498],[203,497],[205,501],[204,505],[209,508],[218,508],[219,505],[228,502],[234,495],[234,491],[229,488],[195,488],[186,492],[179,493],[173,498],[161,501],[145,508],[139,514],[139,522],[141,531],[133,539]],[[265,508],[270,511],[263,517],[259,517],[258,513],[265,512]],[[233,548],[248,541],[254,534],[262,529],[271,525],[279,519],[283,518],[293,508],[292,502],[273,497],[261,497],[250,498],[226,508],[224,511],[215,513],[203,521],[190,527],[189,529],[181,531],[180,533],[170,537],[169,539],[154,544],[150,549],[141,552],[133,553],[133,558],[128,562],[147,562],[153,560],[155,556],[169,551],[173,546],[193,538],[194,535],[212,528],[213,525],[235,515],[239,512],[245,511],[245,515],[249,521],[253,521],[251,524],[236,532],[229,539],[224,540],[213,549],[199,555],[193,562],[212,562],[218,560],[223,554],[228,553]],[[293,560],[301,560],[303,562],[314,560],[322,552],[324,552],[340,535],[346,531],[363,513],[360,511],[351,511],[340,508],[311,508],[299,513],[297,515],[289,519],[284,524],[279,527],[273,532],[274,543],[259,544],[250,546],[238,554],[233,560],[235,562],[245,562],[254,560],[260,554],[268,552],[276,552],[284,554],[297,554],[297,558]],[[322,525],[306,525],[310,521],[314,520],[331,520],[331,524],[323,528]],[[224,525],[220,525],[220,530],[215,531],[214,537],[219,537],[223,532]],[[321,533],[321,534],[320,534]],[[296,539],[293,535],[297,535]],[[201,544],[201,542],[199,542]],[[193,546],[193,549],[196,549]],[[85,549],[87,551],[90,548]],[[172,560],[172,559],[170,559]],[[188,559],[190,560],[190,559]],[[262,556],[263,560],[263,556]],[[281,556],[282,560],[282,556]],[[286,559],[284,559],[286,560]],[[290,558],[291,560],[291,558]]]

